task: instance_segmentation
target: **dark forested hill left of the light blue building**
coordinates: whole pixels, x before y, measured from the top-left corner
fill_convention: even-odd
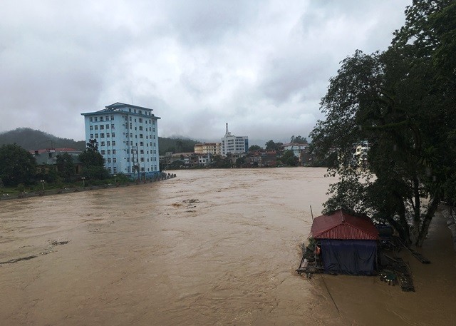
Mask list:
[[[6,133],[0,133],[0,146],[16,143],[27,151],[44,148],[70,147],[78,151],[84,151],[85,141],[73,141],[73,139],[60,138],[43,131],[31,128],[17,128]]]

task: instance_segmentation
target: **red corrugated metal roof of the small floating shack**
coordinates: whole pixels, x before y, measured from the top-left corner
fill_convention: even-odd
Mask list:
[[[353,216],[343,210],[314,218],[311,234],[316,239],[377,240],[378,230],[367,216]]]

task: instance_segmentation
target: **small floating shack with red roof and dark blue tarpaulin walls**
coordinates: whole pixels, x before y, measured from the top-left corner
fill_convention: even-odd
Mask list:
[[[377,269],[378,230],[367,216],[336,210],[315,218],[311,234],[320,240],[325,272],[373,275]]]

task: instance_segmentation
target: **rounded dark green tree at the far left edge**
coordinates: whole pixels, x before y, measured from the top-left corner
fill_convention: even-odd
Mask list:
[[[21,146],[14,144],[0,147],[0,179],[5,186],[33,183],[36,160]]]

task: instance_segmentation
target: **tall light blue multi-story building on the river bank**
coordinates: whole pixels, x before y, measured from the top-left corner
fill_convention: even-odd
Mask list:
[[[149,178],[160,172],[160,118],[152,114],[151,108],[114,103],[81,115],[86,124],[86,143],[95,139],[109,173]]]

